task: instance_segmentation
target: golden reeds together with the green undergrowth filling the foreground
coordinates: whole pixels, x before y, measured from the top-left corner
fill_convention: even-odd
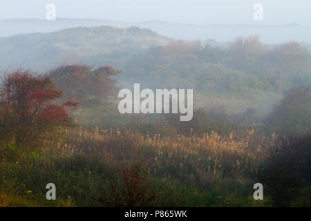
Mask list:
[[[16,177],[22,186],[17,195],[23,200],[13,206],[263,204],[252,200],[252,185],[275,135],[254,129],[228,136],[188,134],[149,137],[75,128],[60,142],[46,142],[15,160],[2,159],[0,173]],[[48,182],[57,186],[57,202],[45,200]]]

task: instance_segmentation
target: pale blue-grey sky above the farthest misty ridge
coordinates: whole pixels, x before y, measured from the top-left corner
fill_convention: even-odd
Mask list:
[[[0,19],[45,19],[48,3],[62,18],[311,26],[310,0],[0,0]],[[256,3],[263,6],[263,21],[253,18]]]

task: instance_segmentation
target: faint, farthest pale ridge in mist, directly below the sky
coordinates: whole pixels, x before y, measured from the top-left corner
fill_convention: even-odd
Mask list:
[[[207,21],[207,23],[212,23]],[[124,28],[137,26],[149,28],[160,35],[182,40],[232,41],[235,37],[260,35],[261,40],[267,44],[277,44],[284,41],[311,41],[311,26],[297,24],[285,25],[205,25],[167,23],[164,21],[124,22],[104,19],[57,19],[46,21],[40,19],[4,19],[0,20],[0,37],[26,34],[32,32],[55,32],[65,28],[113,26]]]

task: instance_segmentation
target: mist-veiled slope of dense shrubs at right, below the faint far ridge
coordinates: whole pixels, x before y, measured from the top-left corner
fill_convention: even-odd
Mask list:
[[[173,41],[130,59],[120,77],[148,88],[196,88],[200,94],[271,93],[310,81],[310,59],[300,44],[267,46],[256,36],[239,37],[227,48]]]

